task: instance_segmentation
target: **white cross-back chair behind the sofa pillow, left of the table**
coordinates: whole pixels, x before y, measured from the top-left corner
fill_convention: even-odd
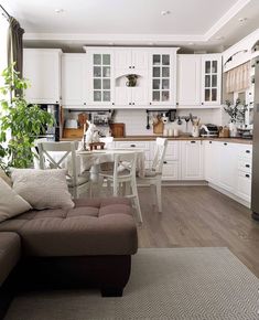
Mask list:
[[[37,143],[40,153],[40,168],[46,169],[46,161],[53,169],[66,168],[67,161],[69,161],[72,171],[67,174],[71,178],[72,185],[77,185],[77,166],[76,166],[76,142],[39,142]],[[56,153],[60,153],[58,156]],[[69,157],[69,158],[68,158]]]

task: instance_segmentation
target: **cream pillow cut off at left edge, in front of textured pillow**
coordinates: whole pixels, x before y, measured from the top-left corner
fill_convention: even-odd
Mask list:
[[[0,179],[0,222],[30,209],[31,205]]]

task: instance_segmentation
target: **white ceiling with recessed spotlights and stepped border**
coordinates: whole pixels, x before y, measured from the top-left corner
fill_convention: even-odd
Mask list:
[[[26,45],[179,45],[222,51],[259,28],[259,0],[3,0]],[[55,9],[63,9],[56,13]],[[161,11],[170,14],[161,15]],[[239,22],[240,18],[247,18]]]

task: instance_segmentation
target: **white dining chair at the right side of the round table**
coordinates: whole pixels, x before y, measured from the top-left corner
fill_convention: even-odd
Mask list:
[[[144,177],[137,178],[138,185],[155,186],[157,204],[159,212],[162,212],[162,199],[161,199],[161,184],[162,184],[162,170],[164,163],[165,151],[168,147],[166,138],[157,138],[155,152],[152,161],[151,169],[144,170]]]

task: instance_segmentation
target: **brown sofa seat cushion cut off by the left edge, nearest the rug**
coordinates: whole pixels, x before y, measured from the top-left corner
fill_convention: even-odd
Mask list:
[[[0,286],[20,258],[20,236],[13,232],[0,232]]]

